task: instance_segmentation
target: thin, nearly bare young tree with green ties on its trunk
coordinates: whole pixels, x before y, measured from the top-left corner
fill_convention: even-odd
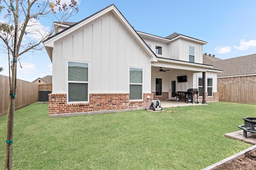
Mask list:
[[[7,115],[6,154],[4,170],[12,169],[12,139],[16,99],[16,65],[19,57],[28,51],[42,50],[42,42],[54,32],[40,29],[40,19],[54,15],[58,23],[78,12],[79,0],[2,0],[6,22],[0,23],[1,46],[9,59],[10,97]],[[1,2],[1,0],[0,0]],[[0,11],[2,8],[0,8]],[[2,11],[3,12],[3,11]]]

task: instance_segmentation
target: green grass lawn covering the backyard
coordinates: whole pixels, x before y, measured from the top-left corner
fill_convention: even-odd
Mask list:
[[[200,170],[252,145],[224,137],[238,131],[256,105],[224,102],[48,118],[48,104],[15,111],[13,170]],[[6,115],[0,117],[0,169]]]

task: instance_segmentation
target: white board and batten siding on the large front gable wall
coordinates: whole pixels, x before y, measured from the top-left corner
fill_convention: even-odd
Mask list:
[[[143,92],[151,93],[151,63],[140,42],[112,14],[54,42],[53,93],[66,93],[68,61],[89,63],[89,93],[129,93],[129,66],[143,68]]]

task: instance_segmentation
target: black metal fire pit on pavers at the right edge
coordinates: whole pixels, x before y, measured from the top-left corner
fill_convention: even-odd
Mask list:
[[[240,129],[244,130],[244,137],[247,137],[247,132],[256,133],[256,117],[245,117],[244,125],[238,126]]]

